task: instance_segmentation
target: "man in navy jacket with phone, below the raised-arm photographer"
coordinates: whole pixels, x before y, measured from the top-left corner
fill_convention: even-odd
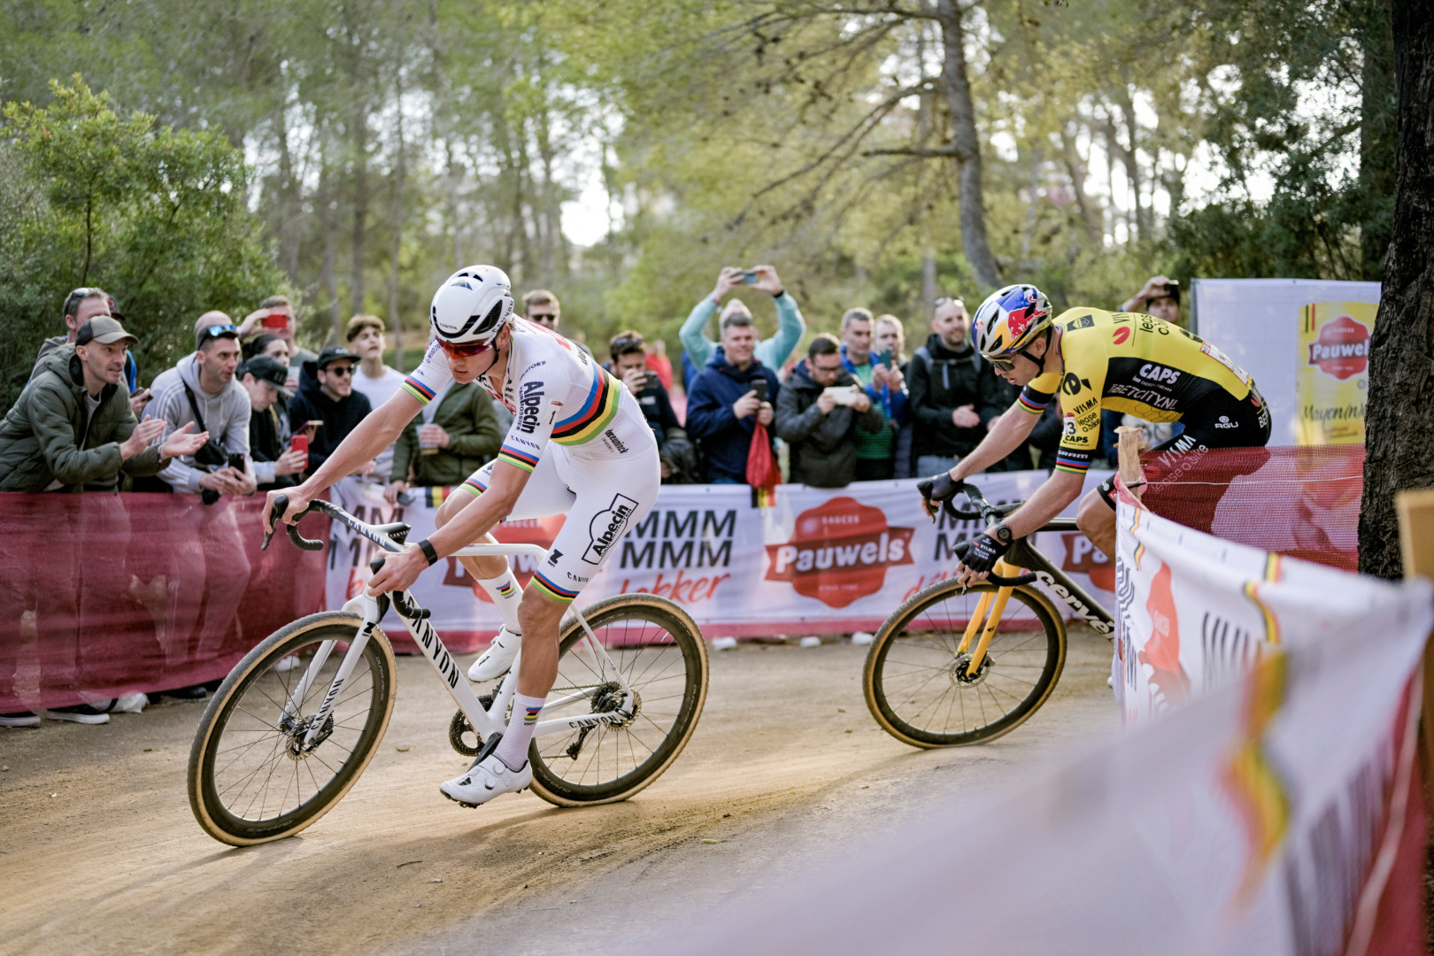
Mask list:
[[[707,456],[713,484],[746,484],[753,430],[759,421],[771,426],[780,386],[777,374],[753,355],[756,347],[751,315],[728,314],[721,320],[721,351],[687,393],[687,434]]]

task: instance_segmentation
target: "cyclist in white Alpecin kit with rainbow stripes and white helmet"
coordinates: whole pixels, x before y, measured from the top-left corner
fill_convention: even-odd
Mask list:
[[[469,669],[475,681],[499,677],[522,646],[518,694],[508,730],[485,741],[472,767],[445,781],[443,795],[469,807],[532,783],[528,745],[558,675],[558,625],[628,527],[657,502],[657,440],[631,391],[591,355],[513,315],[500,269],[455,272],[433,295],[433,341],[403,387],[370,413],[303,484],[278,493],[290,522],[310,499],[387,447],[450,381],[478,381],[513,413],[493,462],[443,503],[432,537],[389,555],[370,593],[403,591],[440,558],[475,542],[503,519],[565,515],[562,530],[523,591],[506,558],[460,558],[503,615],[503,629]]]

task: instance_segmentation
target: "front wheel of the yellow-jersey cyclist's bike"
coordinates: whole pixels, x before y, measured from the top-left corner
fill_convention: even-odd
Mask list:
[[[898,608],[872,641],[862,669],[866,707],[912,747],[961,747],[1008,734],[1050,697],[1065,666],[1065,625],[1050,599],[1025,585],[1011,592],[987,661],[972,675],[956,648],[988,583],[962,593],[941,580]],[[994,595],[992,595],[994,601]]]

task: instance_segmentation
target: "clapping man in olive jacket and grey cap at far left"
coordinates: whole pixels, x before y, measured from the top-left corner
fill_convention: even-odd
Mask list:
[[[0,421],[0,492],[113,490],[120,473],[156,474],[208,436],[182,429],[161,446],[162,421],[136,423],[120,381],[125,347],[138,341],[118,320],[96,315],[73,345],[40,360]]]

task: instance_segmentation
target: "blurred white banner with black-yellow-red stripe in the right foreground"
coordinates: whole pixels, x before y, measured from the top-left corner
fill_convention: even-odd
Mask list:
[[[1121,535],[1139,687],[1173,709],[654,952],[1423,953],[1434,589],[1147,513]]]

